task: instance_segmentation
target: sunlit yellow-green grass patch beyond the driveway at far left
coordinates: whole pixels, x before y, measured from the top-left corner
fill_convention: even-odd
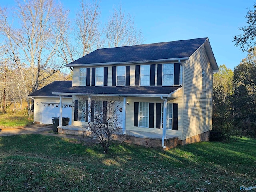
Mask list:
[[[18,113],[0,114],[0,128],[16,128],[33,124],[33,118]]]

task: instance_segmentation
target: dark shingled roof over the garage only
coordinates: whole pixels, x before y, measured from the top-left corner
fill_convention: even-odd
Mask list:
[[[28,96],[57,96],[52,92],[58,92],[59,90],[65,90],[66,88],[72,87],[72,81],[54,81],[43,88],[35,91]]]

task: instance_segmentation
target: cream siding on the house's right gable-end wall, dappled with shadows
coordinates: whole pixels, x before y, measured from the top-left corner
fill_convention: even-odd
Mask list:
[[[181,140],[202,134],[212,126],[212,78],[213,69],[204,46],[183,65],[184,82],[182,111],[183,134]],[[207,74],[202,86],[202,70]]]

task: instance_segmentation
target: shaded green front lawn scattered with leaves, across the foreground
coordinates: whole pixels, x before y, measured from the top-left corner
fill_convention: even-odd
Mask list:
[[[76,140],[0,137],[0,191],[235,192],[256,186],[255,146],[250,138],[168,151],[122,144],[105,155]]]

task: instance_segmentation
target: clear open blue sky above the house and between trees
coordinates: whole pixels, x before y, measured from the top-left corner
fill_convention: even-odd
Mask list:
[[[0,0],[13,6],[14,0]],[[74,18],[80,0],[60,0]],[[208,37],[218,66],[234,70],[246,56],[232,42],[238,27],[246,25],[247,8],[254,0],[101,0],[101,21],[106,23],[113,6],[134,16],[145,44]]]

